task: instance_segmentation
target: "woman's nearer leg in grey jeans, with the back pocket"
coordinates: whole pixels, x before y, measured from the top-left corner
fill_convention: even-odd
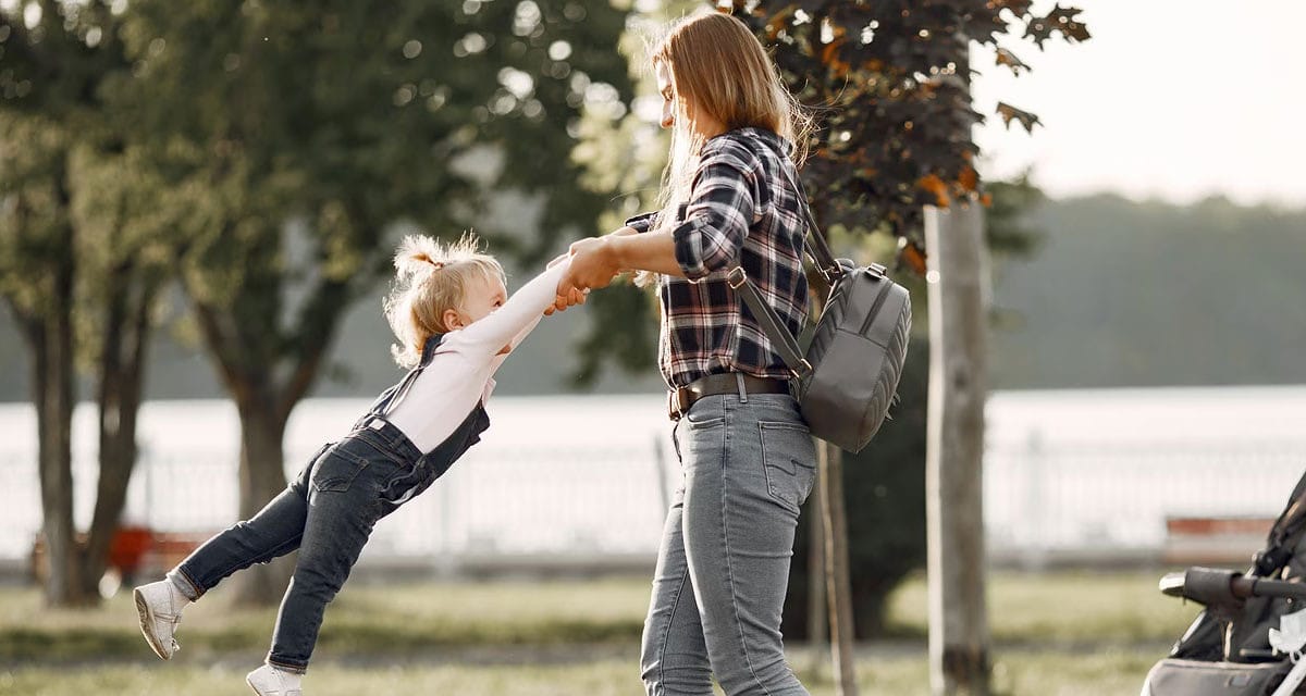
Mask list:
[[[699,411],[700,403],[707,406]],[[708,397],[690,411],[684,545],[712,671],[729,696],[799,696],[780,633],[815,451],[789,397]]]

